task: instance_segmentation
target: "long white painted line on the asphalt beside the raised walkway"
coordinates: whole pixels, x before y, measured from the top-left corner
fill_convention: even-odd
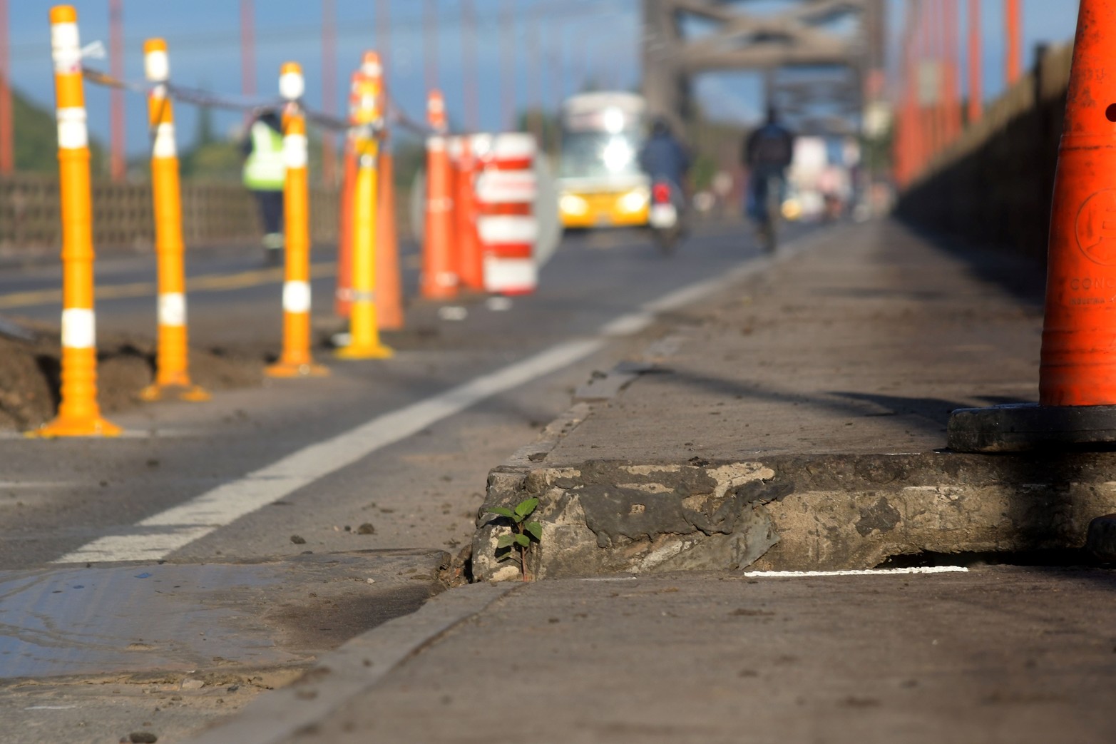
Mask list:
[[[590,338],[567,341],[523,361],[481,375],[446,392],[378,416],[336,437],[300,449],[287,457],[196,496],[179,506],[143,519],[126,534],[105,535],[54,563],[109,561],[161,561],[176,550],[217,532],[304,488],[315,480],[419,433],[437,421],[460,413],[487,398],[506,392],[551,372],[575,364],[600,351],[609,338],[646,328],[657,313],[675,309],[732,286],[770,265],[748,261],[713,279],[704,279],[645,303],[639,311],[603,325]]]

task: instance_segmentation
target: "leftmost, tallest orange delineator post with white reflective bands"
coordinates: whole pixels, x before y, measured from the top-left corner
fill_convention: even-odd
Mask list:
[[[97,403],[97,334],[93,309],[93,203],[81,45],[73,6],[50,9],[50,50],[58,107],[58,171],[62,223],[62,357],[58,416],[30,436],[113,437],[119,427]]]

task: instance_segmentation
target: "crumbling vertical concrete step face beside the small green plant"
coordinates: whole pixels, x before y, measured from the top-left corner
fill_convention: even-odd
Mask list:
[[[537,579],[756,567],[870,569],[917,553],[1079,550],[1116,512],[1116,454],[772,455],[496,468],[474,581],[519,578],[483,514],[538,498]]]

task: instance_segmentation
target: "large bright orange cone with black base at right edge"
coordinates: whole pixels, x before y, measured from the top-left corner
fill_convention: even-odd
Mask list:
[[[1116,0],[1081,0],[1048,244],[1039,404],[962,409],[960,451],[1116,442]]]

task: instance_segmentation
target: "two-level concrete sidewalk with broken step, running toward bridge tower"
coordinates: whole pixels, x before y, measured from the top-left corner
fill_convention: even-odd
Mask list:
[[[489,505],[541,499],[547,581],[450,590],[196,742],[1109,741],[1112,571],[754,573],[1079,547],[1116,512],[1112,454],[941,451],[951,409],[1035,399],[1040,292],[888,222],[787,249],[493,470]],[[501,530],[480,578],[517,571]]]

